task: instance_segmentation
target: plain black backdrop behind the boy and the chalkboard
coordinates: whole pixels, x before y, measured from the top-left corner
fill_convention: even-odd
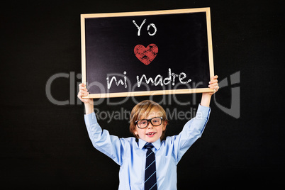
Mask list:
[[[81,81],[81,13],[157,11],[211,7],[215,74],[220,81],[240,72],[240,83],[212,99],[203,136],[178,165],[178,188],[283,186],[284,179],[283,1],[7,1],[1,6],[1,186],[6,189],[117,189],[119,167],[95,150],[77,104]],[[45,87],[55,74],[51,92]],[[230,84],[230,81],[229,81]],[[240,88],[240,118],[230,108],[231,88]],[[282,92],[281,92],[282,91]],[[165,96],[170,111],[196,108],[201,94]],[[130,111],[135,101],[163,96],[104,99],[101,113]],[[190,105],[177,104],[190,101]],[[135,100],[135,101],[134,101]],[[98,102],[97,102],[98,103]],[[104,118],[101,115],[101,118]],[[128,121],[99,121],[128,137]],[[167,126],[179,133],[186,120]]]

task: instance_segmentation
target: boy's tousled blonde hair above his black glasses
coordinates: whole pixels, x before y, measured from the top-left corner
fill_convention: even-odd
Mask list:
[[[133,133],[133,135],[135,135],[135,130],[137,128],[137,126],[135,125],[135,121],[142,119],[142,117],[149,116],[150,113],[154,110],[161,113],[162,124],[165,124],[165,122],[168,121],[164,108],[162,108],[160,104],[157,104],[155,101],[151,100],[141,101],[139,104],[133,107],[133,110],[130,113],[130,133]],[[162,131],[162,136],[160,137],[160,140],[164,138],[165,130]],[[138,135],[135,135],[135,138],[139,138]]]

